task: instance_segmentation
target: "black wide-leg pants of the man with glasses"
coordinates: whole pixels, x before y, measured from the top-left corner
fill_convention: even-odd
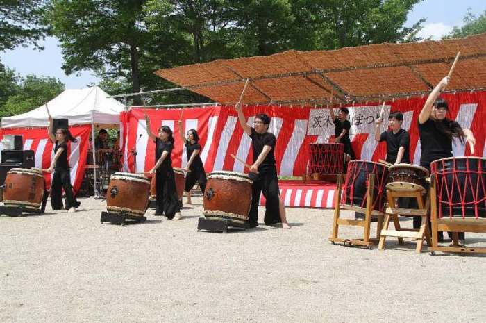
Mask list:
[[[267,200],[265,202],[264,223],[276,224],[280,220],[279,196],[277,169],[275,166],[258,169],[258,174],[251,173],[253,186],[251,190],[251,208],[249,213],[249,226],[258,226],[258,204],[260,203],[260,193]]]

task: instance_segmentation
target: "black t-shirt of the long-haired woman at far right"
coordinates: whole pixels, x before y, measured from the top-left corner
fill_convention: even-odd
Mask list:
[[[459,124],[452,120],[434,121],[428,119],[424,124],[419,123],[420,134],[420,165],[430,167],[434,160],[452,157],[452,140],[439,130],[440,124],[446,129],[452,129]]]

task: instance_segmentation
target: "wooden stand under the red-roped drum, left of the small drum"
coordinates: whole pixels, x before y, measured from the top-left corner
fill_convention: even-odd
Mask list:
[[[380,239],[380,232],[383,226],[383,217],[385,213],[378,212],[372,209],[373,204],[373,190],[375,175],[369,174],[368,176],[368,187],[367,187],[367,204],[366,208],[361,208],[359,206],[340,204],[341,190],[342,190],[342,175],[337,176],[337,192],[334,196],[334,222],[333,222],[333,234],[329,237],[331,243],[343,242],[344,245],[362,245],[371,249],[371,245],[376,245]],[[364,220],[352,220],[352,219],[341,219],[340,210],[353,210],[355,212],[364,213]],[[369,238],[371,229],[371,216],[378,217],[378,228],[376,230],[376,239]],[[339,226],[360,226],[364,228],[363,238],[356,239],[343,239],[338,238]]]

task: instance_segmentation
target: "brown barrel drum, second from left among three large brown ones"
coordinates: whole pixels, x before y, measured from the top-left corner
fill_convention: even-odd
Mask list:
[[[115,173],[106,192],[106,210],[142,216],[149,204],[150,179],[141,174]]]

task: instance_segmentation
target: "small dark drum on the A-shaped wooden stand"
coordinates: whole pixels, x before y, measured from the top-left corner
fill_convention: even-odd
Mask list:
[[[392,165],[388,168],[387,188],[399,192],[425,190],[427,177],[428,170],[424,167],[410,164]]]

